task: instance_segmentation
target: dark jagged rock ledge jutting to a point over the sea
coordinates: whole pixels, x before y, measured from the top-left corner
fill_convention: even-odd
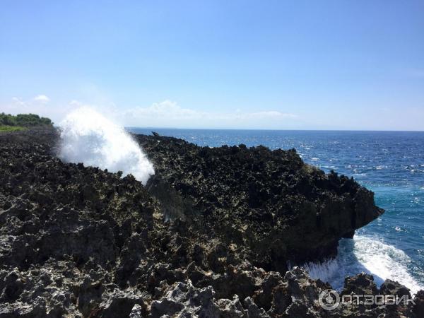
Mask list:
[[[383,213],[372,192],[303,163],[294,149],[199,147],[157,134],[136,139],[155,165],[147,187],[168,218],[233,244],[264,269],[332,256],[341,237]]]

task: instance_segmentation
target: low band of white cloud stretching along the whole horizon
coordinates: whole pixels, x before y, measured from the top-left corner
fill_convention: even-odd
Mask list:
[[[92,107],[120,126],[192,129],[359,129],[359,130],[423,130],[424,108],[406,105],[402,110],[388,105],[357,118],[335,117],[318,121],[316,113],[293,114],[279,110],[221,110],[201,111],[184,108],[172,100],[155,102],[150,106],[118,107],[110,100],[97,103],[71,100],[60,102],[47,95],[23,99],[14,97],[0,102],[0,112],[10,114],[34,113],[49,117],[54,123],[79,107]]]

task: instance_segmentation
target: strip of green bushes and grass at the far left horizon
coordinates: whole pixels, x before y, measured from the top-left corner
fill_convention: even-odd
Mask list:
[[[52,126],[53,123],[49,118],[40,117],[37,114],[0,114],[0,131],[17,131],[25,129],[25,127],[33,126]]]

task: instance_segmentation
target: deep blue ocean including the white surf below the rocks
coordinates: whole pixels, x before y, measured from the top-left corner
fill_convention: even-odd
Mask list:
[[[152,129],[129,129],[150,134]],[[424,132],[254,131],[155,129],[199,146],[259,144],[295,148],[306,163],[353,176],[375,192],[386,213],[342,240],[338,257],[307,264],[312,276],[341,288],[343,277],[367,271],[377,283],[392,278],[414,292],[424,286]]]

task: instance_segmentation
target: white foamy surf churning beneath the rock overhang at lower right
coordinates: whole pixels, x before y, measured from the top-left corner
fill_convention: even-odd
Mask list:
[[[355,235],[353,240],[342,239],[335,259],[322,263],[307,263],[303,267],[312,278],[330,283],[334,289],[342,290],[344,278],[362,271],[374,276],[377,286],[387,278],[398,281],[416,293],[423,289],[408,273],[411,258],[401,249],[386,245],[372,237]]]

